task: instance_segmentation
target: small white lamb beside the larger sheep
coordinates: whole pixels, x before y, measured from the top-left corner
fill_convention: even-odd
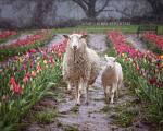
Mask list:
[[[114,103],[114,94],[118,96],[118,91],[123,85],[123,71],[122,66],[116,62],[116,58],[108,57],[105,55],[106,66],[103,68],[101,82],[104,90],[106,102],[109,102],[109,95],[111,93],[111,104]]]

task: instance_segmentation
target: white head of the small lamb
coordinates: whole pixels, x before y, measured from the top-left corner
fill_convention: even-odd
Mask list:
[[[106,60],[106,68],[108,69],[113,69],[114,66],[115,66],[115,62],[116,62],[116,58],[114,58],[114,57],[108,57],[105,55],[105,60]]]

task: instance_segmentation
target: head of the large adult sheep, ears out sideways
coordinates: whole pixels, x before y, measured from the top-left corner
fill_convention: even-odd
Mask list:
[[[85,49],[87,46],[87,35],[72,34],[63,36],[67,39],[67,47],[71,48],[73,51]]]

